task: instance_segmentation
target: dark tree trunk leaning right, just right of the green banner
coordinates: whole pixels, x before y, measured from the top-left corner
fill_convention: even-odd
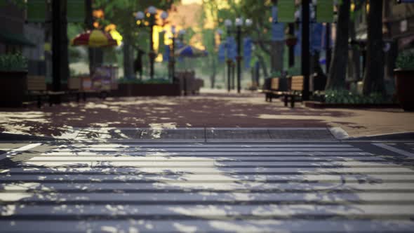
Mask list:
[[[350,0],[342,0],[338,13],[335,48],[330,62],[326,89],[338,90],[345,88],[348,61],[348,26]]]

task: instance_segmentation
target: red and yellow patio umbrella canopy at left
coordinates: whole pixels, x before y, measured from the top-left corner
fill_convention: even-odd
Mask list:
[[[72,41],[72,46],[107,47],[117,46],[116,40],[107,32],[94,29],[77,35]]]

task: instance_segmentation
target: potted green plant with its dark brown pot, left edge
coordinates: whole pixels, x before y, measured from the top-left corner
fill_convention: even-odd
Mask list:
[[[27,93],[27,59],[20,53],[0,55],[0,107],[19,107]]]

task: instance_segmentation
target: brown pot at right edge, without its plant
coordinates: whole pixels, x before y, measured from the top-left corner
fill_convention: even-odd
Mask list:
[[[405,111],[414,111],[414,69],[395,69],[396,95]]]

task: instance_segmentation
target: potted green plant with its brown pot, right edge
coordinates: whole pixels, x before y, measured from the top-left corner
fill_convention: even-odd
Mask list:
[[[401,107],[414,111],[414,53],[400,53],[394,69],[396,95]]]

